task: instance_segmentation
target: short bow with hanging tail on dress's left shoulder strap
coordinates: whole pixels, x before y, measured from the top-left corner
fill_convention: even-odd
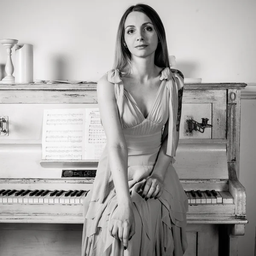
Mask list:
[[[119,70],[118,69],[111,69],[107,72],[108,74],[108,81],[112,84],[115,84],[115,94],[116,94],[116,104],[120,107],[122,96],[124,93],[124,85],[120,78]]]

